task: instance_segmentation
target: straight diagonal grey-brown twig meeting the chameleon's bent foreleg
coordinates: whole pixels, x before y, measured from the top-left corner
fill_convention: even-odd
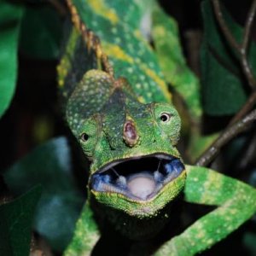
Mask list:
[[[217,138],[217,140],[212,143],[212,145],[205,151],[201,157],[196,160],[196,166],[207,166],[218,154],[220,148],[224,146],[224,144],[228,143],[230,139],[236,137],[237,134],[245,131],[248,125],[251,125],[253,121],[256,120],[256,109],[254,109],[251,113],[248,113],[243,119],[236,122],[234,125],[228,126],[223,133]]]

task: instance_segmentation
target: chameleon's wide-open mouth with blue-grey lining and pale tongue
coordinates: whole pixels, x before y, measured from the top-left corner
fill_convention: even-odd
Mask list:
[[[148,201],[183,170],[181,160],[171,155],[134,157],[112,162],[94,173],[90,188],[122,194],[135,201]]]

